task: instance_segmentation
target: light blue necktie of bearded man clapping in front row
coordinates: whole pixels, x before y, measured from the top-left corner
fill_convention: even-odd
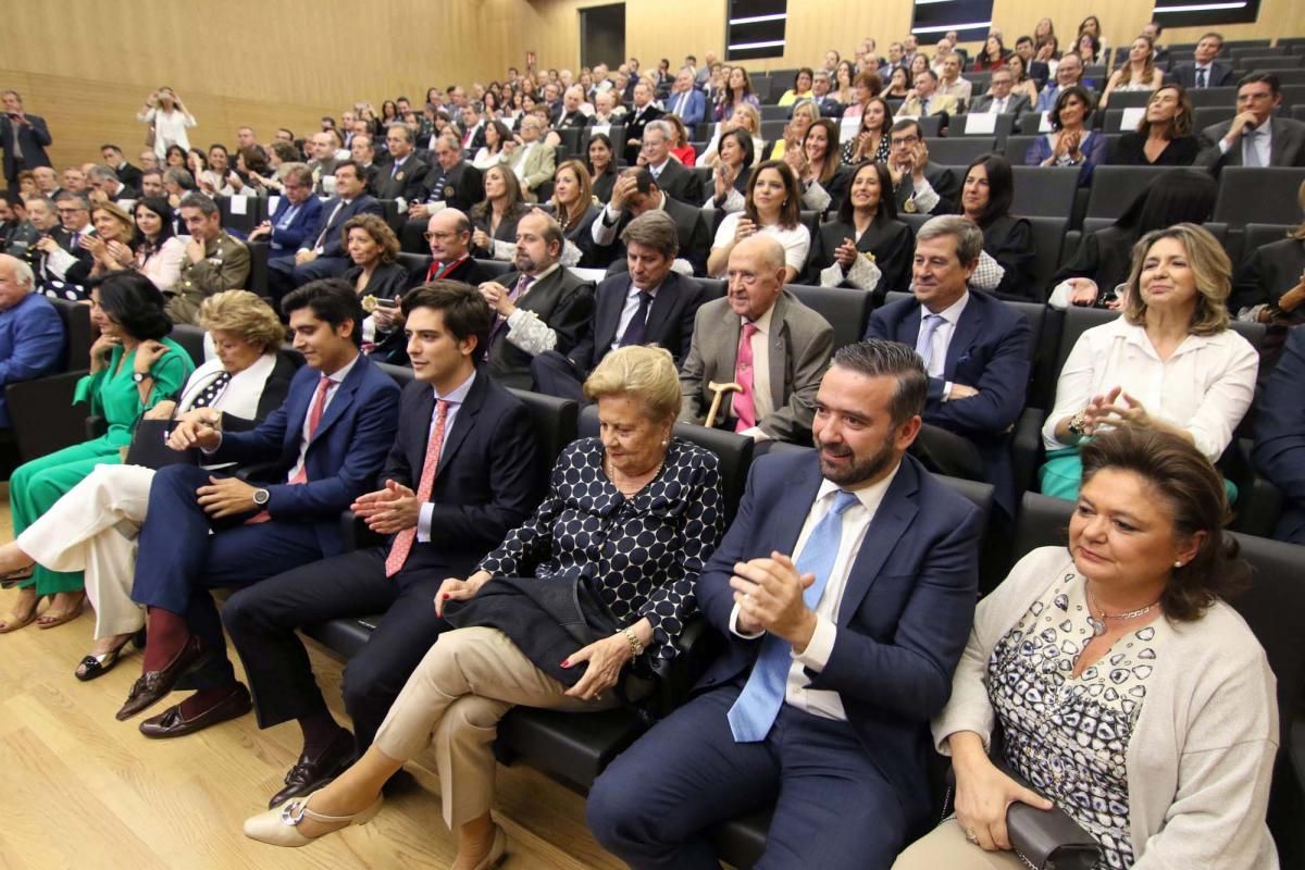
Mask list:
[[[860,502],[855,493],[839,489],[834,494],[833,507],[816,523],[801,556],[797,557],[797,573],[816,575],[816,582],[803,592],[803,601],[809,608],[820,603],[825,583],[829,582],[829,573],[834,569],[838,544],[843,536],[843,511],[856,503]],[[784,702],[792,651],[792,644],[778,635],[767,634],[762,638],[761,652],[752,667],[752,674],[727,716],[735,742],[754,743],[766,740],[770,727],[779,715],[779,706]]]

